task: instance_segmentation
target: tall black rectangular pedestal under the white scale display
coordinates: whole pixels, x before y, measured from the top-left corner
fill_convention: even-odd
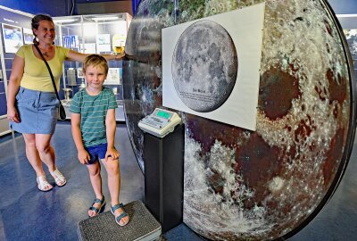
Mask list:
[[[145,205],[163,233],[182,223],[184,137],[183,124],[162,138],[144,134]]]

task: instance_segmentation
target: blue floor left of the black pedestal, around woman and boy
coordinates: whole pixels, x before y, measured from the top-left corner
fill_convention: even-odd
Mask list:
[[[131,151],[127,129],[120,126],[116,135],[120,150],[120,202],[144,199],[144,177]],[[87,168],[77,161],[77,150],[71,137],[71,126],[59,124],[53,145],[57,166],[68,183],[50,192],[37,190],[35,173],[24,152],[22,136],[0,143],[0,240],[78,240],[77,223],[87,219],[87,208],[95,195],[89,183]],[[104,178],[104,195],[109,198]],[[47,179],[54,179],[47,172]],[[106,205],[105,211],[109,210]]]

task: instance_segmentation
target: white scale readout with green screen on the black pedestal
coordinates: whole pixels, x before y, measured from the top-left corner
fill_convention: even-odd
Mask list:
[[[178,113],[156,108],[152,114],[139,120],[138,127],[155,137],[165,137],[181,123]]]

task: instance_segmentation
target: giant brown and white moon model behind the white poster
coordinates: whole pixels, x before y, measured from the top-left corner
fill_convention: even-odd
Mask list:
[[[129,27],[126,53],[135,58],[123,63],[124,112],[145,172],[137,123],[162,106],[162,29],[260,3],[256,130],[179,112],[185,124],[184,222],[211,240],[286,239],[335,191],[355,128],[353,68],[342,30],[323,0],[143,0]],[[223,74],[214,70],[203,74]]]

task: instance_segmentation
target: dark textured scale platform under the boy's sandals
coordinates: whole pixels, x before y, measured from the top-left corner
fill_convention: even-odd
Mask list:
[[[78,224],[80,241],[154,241],[160,240],[161,224],[145,208],[141,201],[134,201],[124,206],[129,214],[129,223],[120,227],[110,211],[93,218],[81,220]]]

